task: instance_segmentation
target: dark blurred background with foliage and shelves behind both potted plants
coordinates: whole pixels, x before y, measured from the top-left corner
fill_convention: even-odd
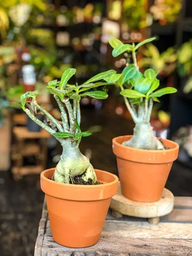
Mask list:
[[[180,145],[166,188],[192,196],[192,2],[191,0],[1,0],[0,1],[0,255],[33,255],[44,194],[39,174],[56,166],[61,147],[20,109],[20,95],[38,90],[38,102],[60,119],[46,84],[66,68],[74,83],[98,72],[121,72],[124,56],[112,58],[110,38],[157,40],[138,52],[140,70],[154,68],[161,86],[178,92],[154,106],[157,136]],[[109,88],[104,88],[108,90]],[[81,151],[95,168],[116,173],[111,140],[132,134],[134,124],[119,95],[81,100]],[[39,116],[42,120],[43,116]]]

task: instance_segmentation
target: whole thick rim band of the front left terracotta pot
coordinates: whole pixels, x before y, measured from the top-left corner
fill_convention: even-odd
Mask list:
[[[95,170],[98,180],[103,184],[76,185],[49,180],[48,175],[52,176],[54,170],[55,168],[44,170],[40,175],[41,188],[46,196],[72,201],[98,201],[111,198],[116,193],[118,177],[113,173]]]

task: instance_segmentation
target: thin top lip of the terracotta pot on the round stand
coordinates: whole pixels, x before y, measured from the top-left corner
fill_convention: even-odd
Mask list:
[[[128,139],[131,139],[132,135],[124,135],[124,136],[118,136],[118,137],[115,137],[113,138],[113,144],[115,144],[117,147],[122,147],[122,148],[129,148],[130,150],[135,150],[135,151],[138,151],[138,152],[150,152],[150,153],[153,153],[153,154],[159,154],[161,152],[163,152],[163,150],[148,150],[148,149],[141,149],[141,148],[131,148],[131,147],[127,147],[127,146],[124,146],[122,145],[121,143],[119,143],[117,140],[118,139],[122,139],[122,138],[125,138],[124,141],[128,140]],[[157,138],[157,139],[160,139],[160,138]],[[173,148],[170,148],[170,149],[166,149],[166,151],[168,152],[172,152],[172,151],[175,151],[175,150],[179,150],[179,145],[176,143],[176,142],[173,142],[172,140],[167,140],[167,139],[162,139],[164,141],[170,141],[171,143],[173,143],[173,145],[175,145],[175,147]],[[122,141],[122,142],[124,142]]]

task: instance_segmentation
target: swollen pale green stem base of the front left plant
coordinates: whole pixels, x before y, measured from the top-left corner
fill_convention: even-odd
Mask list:
[[[54,173],[54,180],[70,183],[70,181],[73,182],[72,178],[77,175],[82,175],[84,181],[92,179],[93,184],[97,181],[89,159],[81,154],[79,147],[72,147],[70,140],[65,140],[65,143],[63,143],[63,152]]]

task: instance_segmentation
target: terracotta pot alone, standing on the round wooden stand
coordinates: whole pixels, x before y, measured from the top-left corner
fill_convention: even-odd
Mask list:
[[[164,146],[171,149],[145,150],[123,146],[122,143],[131,137],[113,139],[122,194],[138,202],[156,202],[161,198],[173,161],[177,159],[179,145],[163,140]]]

